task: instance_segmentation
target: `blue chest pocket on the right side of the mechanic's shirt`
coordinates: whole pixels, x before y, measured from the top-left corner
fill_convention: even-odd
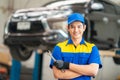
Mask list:
[[[79,54],[78,58],[79,64],[88,64],[89,54]]]

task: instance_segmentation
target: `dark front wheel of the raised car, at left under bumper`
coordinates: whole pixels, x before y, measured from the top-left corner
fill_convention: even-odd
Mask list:
[[[25,61],[29,59],[33,52],[32,50],[28,50],[24,46],[10,46],[9,48],[10,48],[11,56],[15,60],[19,60],[19,61]]]

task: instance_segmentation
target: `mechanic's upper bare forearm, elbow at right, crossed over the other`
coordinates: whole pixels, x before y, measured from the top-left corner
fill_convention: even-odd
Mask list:
[[[77,65],[70,63],[70,70],[81,75],[95,76],[98,72],[98,64]]]

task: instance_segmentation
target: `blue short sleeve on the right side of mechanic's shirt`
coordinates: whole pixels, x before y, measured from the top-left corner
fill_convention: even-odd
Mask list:
[[[101,59],[100,59],[100,55],[99,55],[99,50],[96,46],[92,47],[92,52],[89,58],[88,63],[97,63],[99,64],[99,68],[102,68],[102,63],[101,63]]]

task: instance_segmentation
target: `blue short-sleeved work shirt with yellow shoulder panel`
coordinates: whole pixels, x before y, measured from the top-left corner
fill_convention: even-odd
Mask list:
[[[84,39],[78,46],[74,46],[72,39],[58,43],[52,52],[56,60],[63,60],[78,65],[86,65],[91,63],[99,64],[102,67],[98,48]],[[52,68],[54,61],[51,59],[50,67]],[[59,79],[60,80],[60,79]],[[70,80],[91,80],[91,76],[80,76]]]

